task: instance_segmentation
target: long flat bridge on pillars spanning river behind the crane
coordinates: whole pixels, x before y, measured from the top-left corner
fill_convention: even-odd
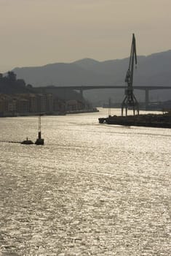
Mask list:
[[[83,97],[83,91],[92,90],[92,89],[127,89],[127,86],[46,86],[46,87],[38,87],[42,92],[50,91],[53,92],[57,89],[71,89],[80,91],[81,97]],[[152,90],[165,90],[171,89],[171,86],[133,86],[135,90],[145,91],[145,102],[146,106],[149,103],[149,91]]]

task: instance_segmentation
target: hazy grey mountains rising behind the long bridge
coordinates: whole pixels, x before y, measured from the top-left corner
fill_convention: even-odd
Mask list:
[[[129,58],[108,61],[81,59],[69,64],[55,63],[42,67],[17,67],[13,71],[17,74],[17,78],[22,78],[33,86],[124,85],[128,64]],[[134,84],[137,86],[171,86],[170,74],[171,50],[154,53],[150,56],[138,56]],[[91,94],[94,92],[92,91]],[[97,93],[100,91],[95,92],[95,94]],[[110,93],[109,90],[108,93]],[[167,91],[167,93],[160,91],[159,94],[162,98],[171,98],[171,91]]]

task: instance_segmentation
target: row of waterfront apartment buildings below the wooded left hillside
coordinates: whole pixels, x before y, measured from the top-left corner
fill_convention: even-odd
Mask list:
[[[84,108],[78,99],[64,100],[52,94],[0,94],[0,116],[60,114]]]

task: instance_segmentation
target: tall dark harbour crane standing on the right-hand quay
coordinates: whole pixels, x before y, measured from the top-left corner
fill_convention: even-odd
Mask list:
[[[127,110],[129,107],[133,109],[133,113],[135,116],[135,110],[137,110],[137,113],[139,115],[139,104],[137,99],[135,98],[135,95],[133,93],[133,73],[134,73],[134,61],[135,64],[137,64],[137,53],[136,53],[136,43],[135,43],[135,35],[132,34],[132,46],[131,46],[131,53],[130,53],[130,63],[129,67],[127,69],[127,75],[125,78],[125,83],[127,83],[127,89],[125,89],[125,97],[122,102],[122,116],[124,113],[125,108],[125,116],[127,116]]]

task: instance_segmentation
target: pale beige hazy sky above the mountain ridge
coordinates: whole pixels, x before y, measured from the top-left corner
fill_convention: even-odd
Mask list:
[[[0,72],[171,49],[171,0],[0,0]]]

